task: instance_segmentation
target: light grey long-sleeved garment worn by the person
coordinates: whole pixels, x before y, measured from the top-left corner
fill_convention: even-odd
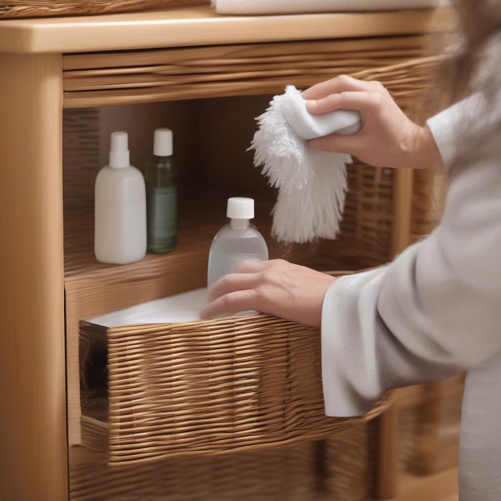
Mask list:
[[[447,167],[461,123],[471,147],[482,144],[483,105],[468,98],[428,121]],[[451,170],[442,221],[427,238],[389,265],[339,279],[323,306],[328,415],[359,415],[386,389],[468,370],[461,501],[501,499],[500,249],[501,164],[485,159]]]

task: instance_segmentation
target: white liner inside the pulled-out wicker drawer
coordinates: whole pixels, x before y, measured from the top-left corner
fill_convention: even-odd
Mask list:
[[[195,289],[156,299],[88,320],[93,324],[115,327],[127,324],[164,324],[200,320],[198,312],[205,303],[207,289]]]

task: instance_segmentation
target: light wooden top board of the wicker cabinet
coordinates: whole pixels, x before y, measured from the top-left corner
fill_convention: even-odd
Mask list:
[[[452,28],[449,9],[219,16],[209,6],[133,14],[0,20],[0,52],[146,49],[420,34]]]

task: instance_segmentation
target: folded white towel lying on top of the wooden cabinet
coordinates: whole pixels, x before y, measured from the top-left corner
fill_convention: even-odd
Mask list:
[[[444,0],[212,0],[218,14],[299,14],[424,9]]]

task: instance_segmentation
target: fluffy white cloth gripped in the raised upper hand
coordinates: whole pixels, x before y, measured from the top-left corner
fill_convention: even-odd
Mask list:
[[[361,125],[357,111],[311,115],[294,86],[275,96],[257,119],[259,129],[249,149],[254,164],[279,189],[272,235],[279,241],[305,243],[335,238],[339,232],[350,155],[309,148],[306,140],[333,132],[351,134]]]

